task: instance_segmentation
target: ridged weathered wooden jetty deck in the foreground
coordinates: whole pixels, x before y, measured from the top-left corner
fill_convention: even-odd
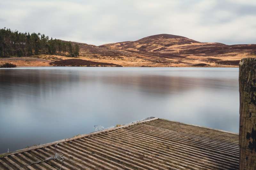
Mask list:
[[[238,134],[150,118],[43,144],[0,158],[1,169],[238,169]]]

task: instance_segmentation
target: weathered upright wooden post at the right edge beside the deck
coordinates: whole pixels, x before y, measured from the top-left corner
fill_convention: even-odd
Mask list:
[[[239,66],[240,170],[256,169],[256,58],[244,58]]]

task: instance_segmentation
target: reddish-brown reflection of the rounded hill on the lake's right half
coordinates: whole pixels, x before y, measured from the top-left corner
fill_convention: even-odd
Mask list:
[[[102,77],[102,81],[116,86],[133,87],[141,92],[167,93],[186,92],[194,88],[237,88],[237,81],[232,79],[212,79],[212,78],[189,78],[189,77],[169,77],[169,76],[121,76]],[[169,95],[169,94],[168,94]]]

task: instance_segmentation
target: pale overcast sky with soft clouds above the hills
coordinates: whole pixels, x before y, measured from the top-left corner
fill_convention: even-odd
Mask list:
[[[0,0],[0,25],[101,45],[168,33],[256,44],[256,0]]]

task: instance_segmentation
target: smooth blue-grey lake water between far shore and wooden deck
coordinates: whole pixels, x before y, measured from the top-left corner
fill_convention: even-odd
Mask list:
[[[150,116],[237,132],[238,68],[0,69],[0,153]]]

